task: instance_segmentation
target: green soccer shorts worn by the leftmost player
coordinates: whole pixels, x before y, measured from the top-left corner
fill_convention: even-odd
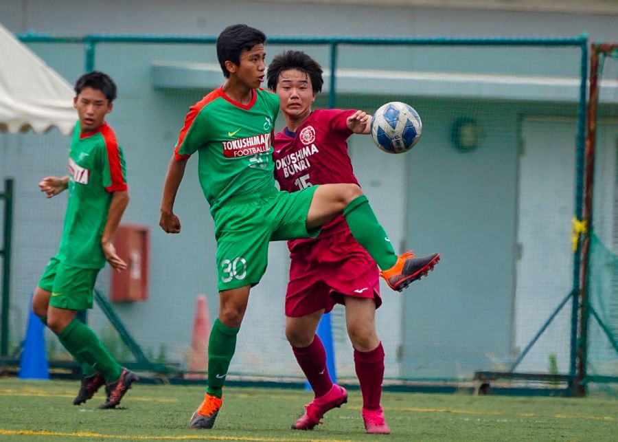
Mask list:
[[[38,287],[52,292],[49,305],[56,309],[91,309],[92,291],[99,271],[69,267],[52,258],[38,281]]]

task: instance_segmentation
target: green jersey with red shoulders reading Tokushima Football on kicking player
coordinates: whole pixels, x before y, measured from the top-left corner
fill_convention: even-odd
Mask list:
[[[251,101],[233,101],[222,87],[191,107],[174,148],[178,161],[198,152],[198,176],[211,213],[230,197],[275,187],[273,127],[279,98],[253,89]]]

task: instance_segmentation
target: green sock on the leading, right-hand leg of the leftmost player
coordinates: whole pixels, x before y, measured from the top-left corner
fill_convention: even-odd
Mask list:
[[[108,353],[95,332],[80,320],[73,319],[58,335],[58,339],[71,355],[78,355],[93,371],[100,372],[106,382],[115,382],[120,377],[120,364]]]

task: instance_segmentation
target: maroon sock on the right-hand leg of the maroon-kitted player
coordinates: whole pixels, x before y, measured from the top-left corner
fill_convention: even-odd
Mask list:
[[[382,396],[382,380],[384,380],[384,347],[382,347],[382,342],[371,351],[354,349],[354,365],[363,393],[363,408],[378,410]]]

